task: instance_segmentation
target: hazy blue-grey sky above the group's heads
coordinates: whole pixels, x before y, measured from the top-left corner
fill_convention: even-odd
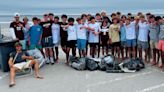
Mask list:
[[[0,0],[0,15],[21,12],[39,14],[44,12],[95,13],[107,12],[153,12],[164,13],[164,0]]]

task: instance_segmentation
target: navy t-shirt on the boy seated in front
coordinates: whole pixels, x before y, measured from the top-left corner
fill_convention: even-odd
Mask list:
[[[15,59],[14,64],[26,62],[25,59],[22,59],[22,56],[23,56],[23,55],[29,56],[29,54],[28,54],[27,52],[20,52],[20,53],[18,53],[18,55],[17,55],[17,57],[16,57],[16,59]],[[13,59],[15,58],[15,56],[16,56],[16,52],[12,52],[12,53],[10,54],[10,57],[13,58]]]

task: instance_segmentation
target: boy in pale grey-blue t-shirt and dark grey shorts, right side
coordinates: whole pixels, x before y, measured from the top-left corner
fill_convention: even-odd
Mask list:
[[[138,23],[138,51],[139,51],[139,58],[142,59],[142,50],[145,51],[145,62],[147,63],[147,56],[148,56],[148,35],[149,35],[149,26],[145,20],[144,15],[140,15],[140,22]]]

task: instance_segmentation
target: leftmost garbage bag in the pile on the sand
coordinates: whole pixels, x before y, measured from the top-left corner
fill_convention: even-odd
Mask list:
[[[72,63],[71,67],[76,70],[85,70],[86,69],[86,58],[79,58],[77,61]]]

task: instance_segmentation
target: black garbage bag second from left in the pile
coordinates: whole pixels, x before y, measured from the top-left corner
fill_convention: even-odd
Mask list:
[[[94,71],[98,69],[98,63],[93,59],[86,58],[86,68],[90,71]]]

